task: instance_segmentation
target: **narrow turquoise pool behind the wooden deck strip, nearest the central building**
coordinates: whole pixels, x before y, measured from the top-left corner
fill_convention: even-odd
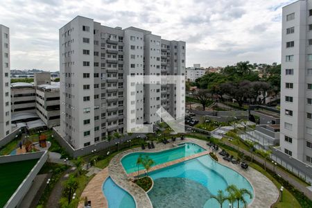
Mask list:
[[[155,162],[155,164],[153,165],[155,166],[166,162],[171,162],[175,159],[180,159],[182,157],[201,153],[203,151],[205,151],[205,149],[198,146],[197,144],[184,143],[176,148],[171,148],[169,150],[164,150],[157,153],[130,153],[129,155],[125,155],[125,157],[121,159],[121,164],[123,164],[125,172],[129,174],[138,170],[137,159],[139,155],[148,155],[150,159],[153,159],[153,161]],[[143,169],[144,166],[139,165],[139,170]]]

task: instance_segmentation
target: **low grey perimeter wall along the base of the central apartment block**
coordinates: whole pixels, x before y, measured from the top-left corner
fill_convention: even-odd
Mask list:
[[[130,139],[144,139],[146,136],[143,134],[133,134],[133,135],[129,135],[129,136],[125,136],[122,137],[120,139],[112,139],[111,141],[100,141],[96,144],[92,144],[90,146],[86,146],[84,148],[78,148],[75,149],[71,146],[71,144],[69,144],[58,132],[58,130],[56,130],[55,128],[53,128],[53,136],[54,138],[58,141],[58,143],[60,143],[60,145],[65,148],[65,150],[67,151],[67,153],[69,153],[69,155],[71,155],[71,157],[76,158],[76,157],[80,157],[80,156],[84,156],[84,155],[89,155],[92,153],[92,150],[96,149],[96,152],[101,151],[101,150],[105,150],[107,148],[110,148],[112,146],[121,146],[124,143],[127,143],[128,140]],[[117,143],[117,144],[116,144]]]

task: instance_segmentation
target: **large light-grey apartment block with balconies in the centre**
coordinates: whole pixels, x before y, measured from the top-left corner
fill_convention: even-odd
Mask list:
[[[173,85],[139,84],[131,106],[136,119],[127,121],[127,76],[184,76],[185,51],[185,42],[139,28],[110,28],[80,16],[71,20],[60,28],[62,137],[83,148],[126,133],[127,122],[159,122],[160,105],[175,116]]]

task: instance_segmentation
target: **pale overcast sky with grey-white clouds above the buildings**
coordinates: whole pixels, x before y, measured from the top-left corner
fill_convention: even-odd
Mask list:
[[[135,26],[187,42],[187,66],[280,62],[281,7],[287,0],[1,0],[10,28],[11,69],[58,71],[58,29],[77,15]]]

